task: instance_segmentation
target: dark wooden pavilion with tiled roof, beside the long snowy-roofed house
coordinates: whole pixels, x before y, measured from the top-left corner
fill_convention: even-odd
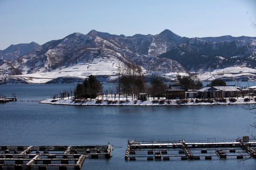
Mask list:
[[[183,89],[181,85],[169,85],[169,88],[165,89],[166,99],[185,99],[186,89]]]

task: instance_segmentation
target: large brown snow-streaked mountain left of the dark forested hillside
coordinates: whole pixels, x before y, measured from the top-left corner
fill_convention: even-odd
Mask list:
[[[20,77],[33,83],[39,78],[43,83],[49,81],[48,78],[84,78],[90,74],[114,79],[119,68],[142,69],[146,75],[187,74],[178,62],[157,57],[182,41],[171,31],[165,32],[132,37],[95,30],[86,35],[74,33],[61,40],[46,42],[11,64],[23,74]]]

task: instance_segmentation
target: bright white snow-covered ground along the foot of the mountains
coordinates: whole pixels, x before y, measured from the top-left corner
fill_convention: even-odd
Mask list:
[[[97,61],[90,61],[90,62],[81,62],[76,65],[59,68],[53,70],[51,72],[45,73],[34,73],[34,74],[24,74],[24,75],[17,75],[17,76],[9,76],[14,78],[23,79],[27,83],[33,84],[42,84],[58,77],[77,77],[77,78],[87,78],[89,75],[94,76],[108,76],[109,80],[113,80],[117,78],[118,75],[118,67],[120,63],[116,59],[101,59]],[[145,72],[145,70],[144,70]],[[170,80],[175,80],[176,75],[179,74],[181,76],[188,76],[186,73],[145,73],[145,76],[163,76]],[[256,79],[256,69],[246,68],[246,67],[229,67],[224,69],[216,69],[212,71],[206,71],[204,73],[197,73],[198,78],[200,81],[212,81],[218,78],[226,78],[232,80],[239,81],[239,77],[241,80],[244,77],[250,77],[248,80],[255,80]],[[4,77],[4,76],[3,76]]]

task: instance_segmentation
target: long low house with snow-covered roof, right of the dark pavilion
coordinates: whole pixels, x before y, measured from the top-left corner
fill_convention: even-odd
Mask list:
[[[206,86],[197,90],[200,98],[240,97],[242,90],[235,85]]]

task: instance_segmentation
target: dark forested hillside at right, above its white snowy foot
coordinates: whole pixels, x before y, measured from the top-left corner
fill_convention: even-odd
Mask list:
[[[203,38],[192,38],[161,54],[159,58],[174,59],[189,71],[194,72],[227,67],[256,68],[256,38],[237,37],[236,40],[217,42],[210,41],[210,38],[204,39],[209,41]]]

